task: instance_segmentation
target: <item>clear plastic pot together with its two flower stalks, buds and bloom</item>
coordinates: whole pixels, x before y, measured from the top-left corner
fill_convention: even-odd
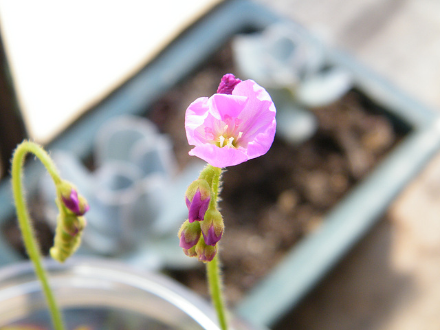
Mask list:
[[[73,184],[61,178],[41,146],[30,141],[19,144],[12,157],[12,190],[19,228],[33,267],[5,270],[3,282],[0,274],[0,300],[7,307],[5,320],[0,320],[3,329],[47,327],[47,320],[39,324],[43,297],[56,330],[111,329],[110,324],[115,329],[218,329],[216,324],[219,329],[230,329],[219,266],[218,246],[224,230],[218,206],[221,173],[227,166],[267,153],[274,141],[275,114],[274,103],[263,87],[232,74],[223,76],[217,93],[197,98],[186,111],[186,136],[195,146],[190,155],[208,164],[186,191],[188,219],[179,230],[179,245],[186,255],[206,263],[217,320],[201,315],[197,304],[186,298],[190,294],[174,287],[181,291],[179,296],[163,279],[145,278],[120,270],[121,265],[95,261],[64,264],[80,245],[89,204]],[[50,256],[62,265],[47,263],[50,274],[34,236],[21,182],[28,153],[43,163],[56,187],[58,217]],[[33,273],[41,290],[36,287]]]

